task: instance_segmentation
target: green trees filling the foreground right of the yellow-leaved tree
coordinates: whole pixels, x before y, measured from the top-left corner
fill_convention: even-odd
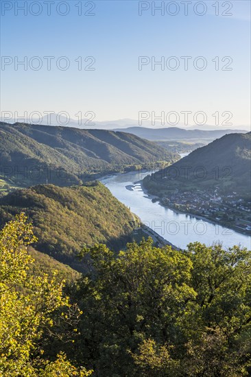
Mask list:
[[[250,251],[128,244],[85,248],[79,358],[100,376],[246,376]]]

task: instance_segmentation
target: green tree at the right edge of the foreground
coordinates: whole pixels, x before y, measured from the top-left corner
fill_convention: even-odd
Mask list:
[[[187,369],[190,375],[245,376],[251,352],[251,252],[191,243],[187,254],[197,292],[184,322]]]

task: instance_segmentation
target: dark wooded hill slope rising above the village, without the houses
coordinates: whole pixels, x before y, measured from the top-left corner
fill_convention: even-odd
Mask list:
[[[151,193],[179,189],[192,191],[218,187],[222,192],[250,193],[251,132],[228,134],[145,178]]]

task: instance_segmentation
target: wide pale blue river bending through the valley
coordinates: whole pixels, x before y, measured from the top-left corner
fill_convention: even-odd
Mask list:
[[[145,225],[177,247],[185,249],[188,243],[195,241],[206,245],[220,241],[224,247],[241,245],[250,250],[250,236],[191,215],[174,212],[160,206],[158,202],[153,203],[143,192],[141,184],[137,183],[150,173],[136,171],[110,175],[102,178],[101,182],[121,203],[138,215]]]

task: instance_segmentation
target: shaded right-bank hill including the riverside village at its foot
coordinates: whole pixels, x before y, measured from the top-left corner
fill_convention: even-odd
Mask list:
[[[160,204],[250,234],[251,133],[229,134],[148,175]]]

